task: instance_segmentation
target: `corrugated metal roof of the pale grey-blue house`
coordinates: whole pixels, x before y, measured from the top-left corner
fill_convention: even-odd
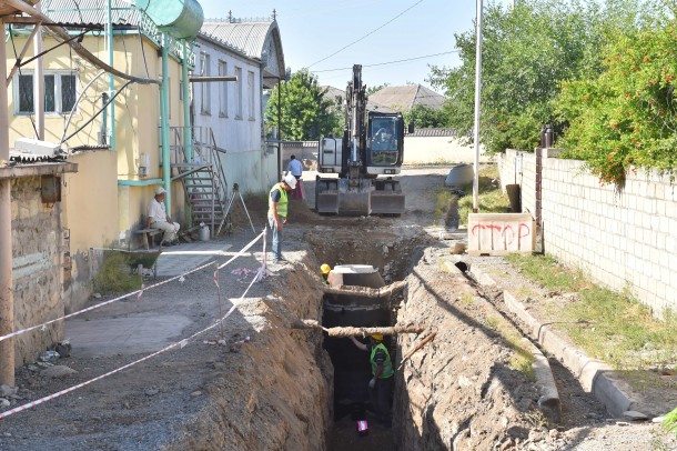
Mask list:
[[[205,20],[201,33],[218,39],[230,47],[240,49],[250,58],[261,58],[263,44],[269,33],[277,27],[277,22],[230,22]]]

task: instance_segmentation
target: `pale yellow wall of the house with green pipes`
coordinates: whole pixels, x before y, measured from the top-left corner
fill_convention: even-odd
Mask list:
[[[14,37],[14,46],[17,51],[23,48],[26,37]],[[48,49],[55,46],[55,40],[46,37],[43,48]],[[94,56],[103,61],[108,61],[108,52],[105,51],[103,37],[85,37],[82,46]],[[117,34],[114,38],[114,67],[125,73],[135,77],[150,78],[161,80],[162,76],[162,58],[154,44],[143,38],[143,51],[138,34]],[[8,67],[13,64],[12,43],[8,42]],[[32,44],[29,43],[29,50],[24,59],[33,56]],[[80,58],[70,47],[61,46],[60,48],[47,53],[43,57],[44,71],[51,70],[70,70],[78,73],[78,92],[77,96],[84,90],[85,86],[100,72],[100,69],[92,66],[90,62]],[[22,71],[34,70],[34,64],[29,63],[22,68]],[[180,61],[170,58],[169,60],[169,77],[170,77],[170,127],[183,126],[183,103],[180,100],[181,87],[181,63]],[[17,76],[19,72],[17,72]],[[10,100],[10,147],[13,147],[18,138],[36,138],[33,130],[32,118],[30,116],[14,114],[14,80],[10,83],[8,97]],[[121,90],[127,80],[115,79],[115,90]],[[103,106],[102,93],[109,90],[109,76],[104,73],[100,76],[91,86],[88,87],[84,96],[78,104],[77,111],[72,114],[71,121],[65,130],[65,136],[77,131],[84,126],[92,116],[98,112]],[[127,84],[124,90],[115,98],[115,149],[111,152],[114,157],[112,161],[113,173],[107,170],[97,176],[97,179],[111,177],[111,181],[118,183],[118,180],[132,181],[132,183],[144,184],[151,182],[151,179],[162,178],[161,167],[161,142],[160,142],[160,86],[156,83]],[[97,146],[98,134],[102,130],[102,121],[104,114],[99,114],[94,120],[87,124],[78,134],[69,139],[63,148],[77,148],[81,146]],[[44,140],[50,142],[61,142],[64,136],[65,122],[68,114],[46,114],[44,119]],[[171,140],[170,140],[171,142]],[[142,153],[149,156],[150,164],[148,176],[139,177],[139,163]],[[74,177],[80,177],[84,170],[80,170]],[[78,197],[77,202],[97,203],[100,201],[99,193],[93,190],[92,184],[83,191],[82,197]],[[119,232],[131,231],[140,223],[141,218],[145,216],[148,202],[153,197],[153,190],[156,184],[149,186],[132,186],[119,187],[119,196],[109,197],[104,209],[111,210],[115,206],[119,213],[111,224],[117,230],[112,233],[114,238]],[[184,225],[184,194],[181,183],[172,183],[172,218]],[[85,201],[83,198],[89,194],[91,199]],[[78,207],[71,202],[71,211]],[[102,213],[102,218],[110,219],[108,213]],[[109,237],[108,231],[104,233]],[[93,242],[100,242],[99,238],[92,237]],[[89,239],[89,238],[88,238]],[[91,247],[91,244],[89,245]]]

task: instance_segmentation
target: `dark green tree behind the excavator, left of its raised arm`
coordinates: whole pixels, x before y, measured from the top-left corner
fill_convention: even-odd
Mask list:
[[[277,90],[275,86],[265,111],[270,127],[277,127]],[[326,89],[320,88],[317,78],[306,69],[292,74],[282,82],[281,121],[282,137],[286,140],[317,139],[340,128],[340,118],[333,107],[333,99],[325,97]]]

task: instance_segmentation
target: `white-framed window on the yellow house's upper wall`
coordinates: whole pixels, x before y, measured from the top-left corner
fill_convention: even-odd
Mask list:
[[[14,83],[14,112],[17,114],[32,114],[33,102],[33,73],[23,72],[18,76]],[[44,73],[44,112],[69,113],[75,106],[78,93],[78,76],[75,72],[47,72]]]

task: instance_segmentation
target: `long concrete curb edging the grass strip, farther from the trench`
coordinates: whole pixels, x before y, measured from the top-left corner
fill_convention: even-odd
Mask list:
[[[493,283],[489,284],[496,284],[482,270],[471,268],[471,272],[477,280],[485,282],[491,280]],[[614,369],[610,365],[592,359],[580,349],[567,343],[550,325],[540,323],[534,318],[508,290],[503,291],[503,298],[506,307],[527,325],[531,337],[559,359],[578,379],[583,389],[592,392],[597,400],[603,402],[613,417],[622,418],[624,412],[635,410],[633,405],[636,402],[619,387],[620,382],[614,379]]]

